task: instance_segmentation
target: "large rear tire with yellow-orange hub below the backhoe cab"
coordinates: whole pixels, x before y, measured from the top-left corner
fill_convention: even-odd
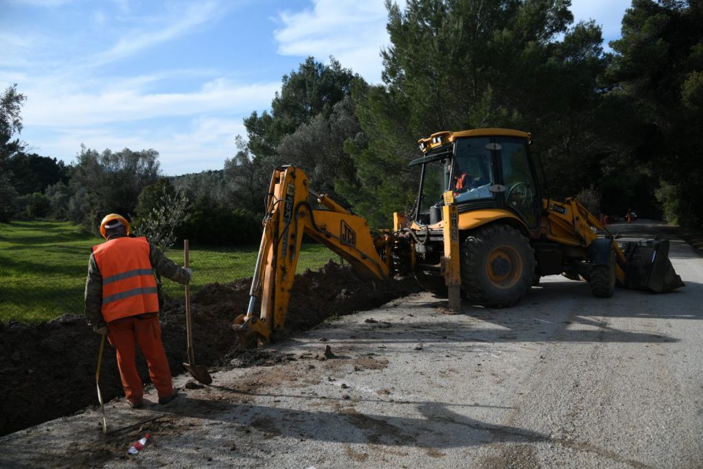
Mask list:
[[[472,304],[517,303],[530,289],[534,269],[529,240],[511,226],[482,226],[461,245],[461,288]]]

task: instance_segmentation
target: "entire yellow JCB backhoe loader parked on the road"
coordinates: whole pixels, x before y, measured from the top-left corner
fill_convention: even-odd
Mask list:
[[[683,286],[668,240],[626,243],[575,198],[543,198],[531,136],[510,129],[441,131],[418,141],[423,156],[412,217],[394,213],[392,230],[371,233],[328,195],[311,190],[297,167],[273,171],[250,302],[233,329],[240,345],[259,345],[285,327],[303,234],[367,278],[414,275],[450,309],[509,307],[542,276],[585,280],[595,297],[616,284],[654,292]],[[316,200],[314,208],[309,198]],[[257,311],[258,307],[258,311]]]

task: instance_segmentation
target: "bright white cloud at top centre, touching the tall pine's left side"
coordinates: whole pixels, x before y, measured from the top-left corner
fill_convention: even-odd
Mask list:
[[[389,44],[387,11],[380,0],[313,0],[310,10],[283,11],[283,27],[274,32],[284,56],[330,55],[370,82],[380,82],[381,47]],[[399,1],[402,5],[404,1]]]

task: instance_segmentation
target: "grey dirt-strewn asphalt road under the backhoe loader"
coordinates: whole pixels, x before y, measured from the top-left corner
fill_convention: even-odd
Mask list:
[[[113,401],[110,437],[95,409],[3,437],[0,465],[703,467],[703,257],[678,238],[670,257],[686,287],[664,295],[553,276],[510,309],[421,294],[328,321],[169,406]]]

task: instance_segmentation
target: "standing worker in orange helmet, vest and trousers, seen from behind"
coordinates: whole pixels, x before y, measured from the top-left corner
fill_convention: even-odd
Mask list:
[[[103,218],[105,243],[93,247],[86,279],[86,319],[96,333],[108,335],[117,352],[124,395],[132,409],[143,407],[143,385],[136,369],[135,345],[146,358],[159,404],[176,397],[171,369],[161,341],[159,298],[153,269],[172,281],[188,284],[191,269],[169,260],[144,238],[129,237],[129,222],[112,213]]]

